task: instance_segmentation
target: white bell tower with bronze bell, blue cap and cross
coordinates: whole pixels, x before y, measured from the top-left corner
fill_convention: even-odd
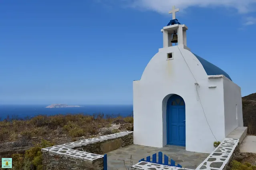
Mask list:
[[[186,30],[187,26],[184,24],[181,25],[178,20],[175,18],[175,12],[178,12],[179,8],[175,9],[175,6],[172,7],[172,10],[169,11],[169,14],[172,14],[172,20],[167,24],[167,26],[161,29],[163,32],[163,48],[171,47],[172,43],[178,43],[177,45],[184,45],[184,48],[187,48],[187,35]]]

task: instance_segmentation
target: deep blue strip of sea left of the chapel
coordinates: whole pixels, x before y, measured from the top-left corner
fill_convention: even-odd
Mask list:
[[[82,107],[45,108],[48,105],[0,105],[0,121],[7,117],[9,119],[28,119],[36,115],[58,115],[58,114],[85,114],[93,115],[103,113],[104,115],[132,116],[133,105],[79,105]]]

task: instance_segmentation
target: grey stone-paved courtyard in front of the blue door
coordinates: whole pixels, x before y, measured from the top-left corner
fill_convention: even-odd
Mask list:
[[[107,153],[108,170],[131,170],[132,164],[137,164],[140,159],[151,156],[161,151],[163,154],[175,160],[182,168],[196,169],[196,167],[207,158],[209,154],[189,152],[182,146],[167,145],[163,148],[153,148],[149,146],[130,145]],[[157,157],[158,160],[158,157]],[[125,161],[125,165],[124,165]]]

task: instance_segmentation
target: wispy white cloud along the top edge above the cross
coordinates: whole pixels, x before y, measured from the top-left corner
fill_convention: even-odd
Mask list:
[[[256,0],[97,0],[107,3],[122,3],[133,8],[153,10],[161,14],[166,14],[171,6],[177,8],[188,8],[191,6],[209,7],[223,6],[234,8],[239,13],[256,11]]]

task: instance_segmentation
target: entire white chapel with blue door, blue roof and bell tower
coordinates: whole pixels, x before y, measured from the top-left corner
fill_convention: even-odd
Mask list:
[[[161,29],[163,48],[133,81],[134,144],[211,153],[215,141],[243,127],[241,88],[187,47],[188,28],[177,11]]]

